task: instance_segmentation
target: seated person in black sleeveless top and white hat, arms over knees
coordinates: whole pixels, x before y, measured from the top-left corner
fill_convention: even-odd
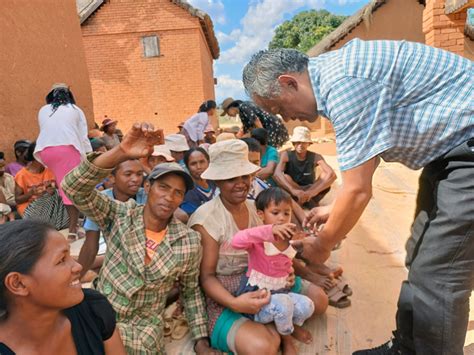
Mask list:
[[[290,141],[295,149],[280,154],[273,179],[299,204],[315,207],[329,191],[336,174],[321,155],[308,150],[313,141],[307,127],[295,127]],[[321,173],[316,178],[317,167]]]

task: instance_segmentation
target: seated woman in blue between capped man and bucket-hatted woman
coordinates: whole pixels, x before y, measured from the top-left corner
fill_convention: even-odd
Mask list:
[[[212,200],[219,194],[219,189],[213,181],[203,179],[201,174],[209,166],[209,154],[204,148],[191,148],[184,153],[184,164],[194,181],[194,189],[186,192],[184,201],[176,210],[175,217],[187,223],[199,206]]]

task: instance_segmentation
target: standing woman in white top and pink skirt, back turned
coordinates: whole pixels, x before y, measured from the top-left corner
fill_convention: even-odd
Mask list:
[[[54,84],[46,96],[46,105],[38,113],[40,133],[36,141],[35,159],[51,169],[56,176],[59,194],[69,214],[69,240],[77,239],[79,211],[64,195],[61,182],[64,176],[79,165],[87,152],[92,151],[87,138],[84,112],[76,106],[74,96],[66,84]]]

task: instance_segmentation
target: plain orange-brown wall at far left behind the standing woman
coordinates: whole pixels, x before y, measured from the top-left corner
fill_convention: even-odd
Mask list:
[[[92,94],[74,0],[1,1],[0,150],[38,136],[38,110],[55,82],[71,86],[92,126]]]

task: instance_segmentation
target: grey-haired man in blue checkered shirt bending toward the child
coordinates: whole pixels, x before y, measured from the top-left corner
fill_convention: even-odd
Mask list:
[[[243,72],[250,97],[285,120],[329,118],[343,187],[296,242],[324,262],[372,195],[379,159],[420,169],[395,337],[356,354],[462,354],[474,283],[474,71],[455,54],[405,41],[352,40],[316,58],[256,53]]]

